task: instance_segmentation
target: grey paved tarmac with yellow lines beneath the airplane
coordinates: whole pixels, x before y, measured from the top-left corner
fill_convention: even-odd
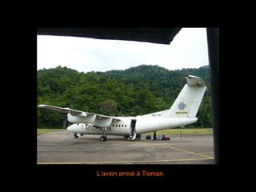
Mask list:
[[[38,134],[38,164],[215,164],[213,134],[166,135],[170,140],[127,141],[122,136],[83,135],[67,130]],[[151,135],[152,137],[153,135]],[[158,134],[157,134],[158,136]],[[153,138],[153,137],[152,137]]]

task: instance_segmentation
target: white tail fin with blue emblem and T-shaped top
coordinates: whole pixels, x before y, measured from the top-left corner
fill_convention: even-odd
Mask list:
[[[170,107],[167,116],[170,118],[195,118],[205,91],[206,84],[202,78],[189,75],[186,77],[186,85]]]

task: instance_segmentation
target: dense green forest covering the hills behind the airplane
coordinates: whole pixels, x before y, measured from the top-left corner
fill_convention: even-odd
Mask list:
[[[37,103],[91,113],[136,116],[169,109],[188,74],[202,77],[207,90],[198,122],[188,127],[212,127],[210,68],[166,70],[141,65],[127,70],[79,73],[66,67],[38,70]],[[38,128],[62,128],[66,114],[38,109]]]

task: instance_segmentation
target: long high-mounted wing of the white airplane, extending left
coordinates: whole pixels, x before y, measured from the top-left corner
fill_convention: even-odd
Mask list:
[[[62,112],[62,113],[66,113],[66,114],[71,114],[72,116],[75,117],[89,117],[89,116],[94,116],[95,118],[103,118],[103,119],[113,119],[113,120],[120,120],[118,118],[114,118],[111,116],[107,116],[107,115],[103,115],[103,114],[93,114],[93,113],[89,113],[89,112],[85,112],[82,110],[72,110],[69,107],[59,107],[59,106],[49,106],[49,105],[38,105],[39,108],[43,108],[46,110],[54,110],[54,111],[58,111],[58,112]]]

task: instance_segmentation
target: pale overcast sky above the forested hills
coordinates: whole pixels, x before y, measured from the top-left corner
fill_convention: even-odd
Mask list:
[[[78,72],[158,65],[168,70],[209,65],[206,28],[182,28],[170,45],[63,36],[37,36],[38,70],[66,66]]]

